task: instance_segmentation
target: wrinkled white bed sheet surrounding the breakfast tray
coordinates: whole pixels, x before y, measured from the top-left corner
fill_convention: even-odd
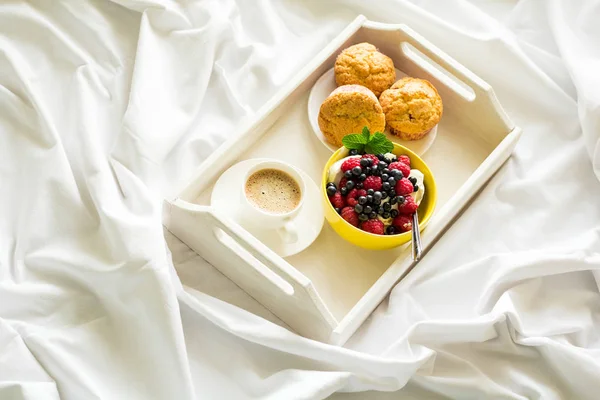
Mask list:
[[[359,13],[480,75],[524,135],[339,348],[164,235],[160,203]],[[593,0],[0,3],[0,399],[596,399],[599,17]]]

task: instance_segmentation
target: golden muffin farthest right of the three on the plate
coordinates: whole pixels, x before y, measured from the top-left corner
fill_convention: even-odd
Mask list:
[[[381,94],[379,102],[390,133],[402,140],[423,138],[442,118],[442,98],[424,79],[400,79]]]

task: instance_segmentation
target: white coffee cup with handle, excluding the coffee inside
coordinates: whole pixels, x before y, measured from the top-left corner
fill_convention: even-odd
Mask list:
[[[293,210],[286,213],[272,213],[259,208],[248,199],[246,195],[246,183],[248,178],[250,178],[250,176],[252,176],[252,174],[255,172],[266,169],[281,171],[289,175],[298,184],[298,187],[300,188],[300,201]],[[297,242],[298,229],[296,228],[296,224],[294,223],[293,219],[298,215],[300,209],[302,208],[304,203],[304,194],[306,191],[304,180],[298,171],[291,165],[281,161],[263,161],[250,168],[242,182],[241,218],[243,221],[261,229],[275,229],[286,243]]]

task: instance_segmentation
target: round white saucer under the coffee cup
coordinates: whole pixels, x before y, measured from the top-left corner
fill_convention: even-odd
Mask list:
[[[246,226],[240,222],[240,196],[243,188],[245,172],[252,166],[269,161],[267,158],[254,158],[245,160],[233,165],[225,171],[212,191],[210,204],[217,210],[228,215],[232,220],[240,224],[244,229],[254,235],[255,238],[263,242],[267,247],[279,254],[281,257],[288,257],[301,252],[315,241],[321,228],[323,228],[324,214],[321,206],[321,194],[318,186],[305,172],[298,170],[306,185],[304,203],[299,214],[294,218],[294,223],[298,229],[298,241],[295,243],[285,243],[281,236],[274,230],[264,230],[254,226]]]

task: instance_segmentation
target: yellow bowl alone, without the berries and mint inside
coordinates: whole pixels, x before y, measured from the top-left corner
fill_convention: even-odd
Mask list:
[[[411,160],[411,168],[418,169],[424,175],[423,183],[425,185],[425,195],[423,196],[423,199],[419,205],[419,209],[417,210],[417,214],[419,216],[419,226],[421,230],[423,230],[423,228],[425,228],[427,225],[427,222],[429,222],[437,203],[437,188],[433,174],[421,157],[417,156],[406,147],[394,143],[394,150],[392,153],[397,156],[402,154],[409,156]],[[341,147],[335,153],[333,153],[323,169],[323,178],[321,180],[321,197],[323,198],[323,205],[325,208],[325,218],[327,219],[327,222],[329,222],[329,225],[331,225],[333,230],[336,231],[337,234],[343,239],[356,246],[370,250],[391,249],[410,241],[410,232],[404,232],[398,235],[375,235],[350,225],[335,211],[325,191],[327,178],[329,176],[329,168],[331,168],[333,163],[339,161],[347,155],[348,149]]]

